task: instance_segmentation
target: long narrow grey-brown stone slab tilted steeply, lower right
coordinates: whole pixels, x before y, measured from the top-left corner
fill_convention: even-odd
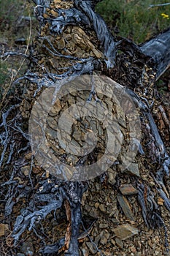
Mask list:
[[[134,214],[131,211],[128,200],[123,195],[117,195],[117,200],[120,203],[121,208],[123,209],[125,217],[132,221],[135,221]]]

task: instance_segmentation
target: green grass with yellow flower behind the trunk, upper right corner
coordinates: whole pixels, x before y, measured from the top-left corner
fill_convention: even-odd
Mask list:
[[[162,2],[169,0],[104,0],[96,6],[96,12],[106,20],[113,34],[139,44],[169,27],[170,5],[149,8],[150,4]],[[169,15],[169,19],[161,13]]]

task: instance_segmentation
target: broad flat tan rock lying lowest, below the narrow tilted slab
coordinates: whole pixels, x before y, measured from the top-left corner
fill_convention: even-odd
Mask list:
[[[119,227],[114,228],[114,233],[115,236],[117,236],[118,238],[125,240],[137,235],[139,233],[139,230],[129,224],[123,224]]]

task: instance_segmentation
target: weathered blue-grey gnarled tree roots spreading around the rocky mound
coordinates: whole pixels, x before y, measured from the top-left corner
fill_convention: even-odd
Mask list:
[[[30,70],[28,70],[23,78],[19,78],[17,81],[15,81],[15,84],[20,83],[20,80],[23,79],[28,80],[33,84],[36,84],[37,88],[34,91],[35,98],[36,94],[41,91],[42,88],[50,86],[62,86],[62,80],[72,80],[75,76],[86,73],[91,74],[93,70],[101,70],[104,67],[105,71],[107,70],[107,72],[112,72],[113,74],[115,68],[114,65],[117,65],[117,61],[115,59],[117,56],[118,47],[120,47],[120,49],[127,56],[130,56],[131,58],[134,57],[134,59],[136,58],[136,61],[139,61],[138,56],[142,56],[142,58],[140,59],[140,64],[142,64],[143,70],[142,74],[141,69],[139,69],[139,67],[134,67],[133,64],[131,65],[131,61],[128,60],[129,66],[131,66],[133,69],[136,68],[136,73],[139,72],[139,75],[141,75],[142,78],[136,81],[134,91],[131,90],[133,89],[132,86],[130,86],[130,89],[126,89],[126,91],[129,95],[131,95],[132,99],[134,99],[134,102],[141,110],[141,116],[144,120],[145,126],[145,136],[146,138],[149,138],[149,140],[152,140],[152,150],[149,148],[148,144],[146,148],[141,149],[141,153],[144,154],[144,151],[147,151],[147,149],[148,151],[152,151],[155,161],[159,163],[158,170],[153,174],[153,177],[155,178],[155,184],[157,184],[158,186],[158,192],[163,198],[167,210],[170,211],[168,192],[166,191],[166,187],[163,184],[163,177],[169,175],[170,158],[166,151],[166,147],[163,144],[163,140],[158,132],[155,121],[152,118],[152,108],[150,108],[150,97],[155,97],[155,95],[150,94],[150,90],[152,90],[152,84],[155,82],[156,79],[160,77],[160,75],[167,69],[167,67],[169,67],[170,63],[168,46],[162,48],[162,45],[169,45],[169,31],[166,31],[164,34],[158,36],[158,38],[152,39],[146,42],[144,45],[138,47],[134,43],[129,42],[125,39],[116,40],[112,36],[112,34],[110,34],[106,24],[104,23],[104,20],[99,15],[97,15],[96,12],[94,12],[95,4],[98,1],[69,1],[69,4],[72,5],[71,8],[58,8],[57,10],[55,10],[55,12],[58,13],[57,18],[53,17],[53,15],[45,16],[45,14],[47,13],[47,9],[51,9],[50,3],[52,2],[53,1],[48,0],[34,0],[34,3],[36,4],[36,17],[37,20],[39,20],[39,24],[41,27],[40,33],[43,31],[43,29],[46,29],[45,32],[48,31],[47,33],[49,33],[47,34],[47,37],[44,35],[45,32],[43,32],[44,34],[42,33],[42,35],[39,35],[38,40],[42,41],[42,48],[40,48],[39,51],[42,53],[42,51],[46,50],[46,58],[47,56],[53,56],[55,61],[57,59],[64,59],[66,61],[69,61],[69,68],[67,68],[68,66],[63,67],[65,68],[63,70],[67,69],[67,71],[61,72],[61,69],[49,69],[47,63],[39,64],[40,57],[37,49],[33,53],[31,52],[30,55],[19,54],[20,56],[29,59],[31,61],[31,64],[34,63],[36,68],[32,67]],[[49,26],[48,29],[45,26]],[[82,28],[86,30],[88,30],[90,26],[93,26],[93,30],[96,32],[96,37],[98,39],[98,42],[96,42],[96,47],[100,48],[104,57],[102,56],[101,58],[97,58],[96,56],[88,56],[86,58],[81,58],[68,55],[68,53],[60,53],[60,51],[55,48],[53,37],[62,37],[64,30],[68,26],[82,26]],[[52,40],[50,41],[51,37]],[[128,47],[125,45],[128,45]],[[155,45],[156,50],[150,50],[155,49]],[[155,55],[155,51],[158,53],[158,55]],[[15,53],[6,53],[2,57],[5,58],[8,55],[14,54]],[[162,56],[163,59],[166,59],[166,63],[165,61],[162,61]],[[167,58],[165,58],[166,56]],[[156,69],[152,70],[152,74],[149,74],[150,77],[146,82],[144,80],[144,75],[147,75],[147,73],[149,73],[146,71],[146,69],[150,68],[150,57],[152,58],[153,63],[157,67],[157,71]],[[145,60],[147,60],[147,67],[144,67]],[[70,63],[72,65],[70,65]],[[36,69],[38,69],[38,71]],[[53,70],[53,72],[51,70]],[[135,75],[136,73],[134,72]],[[141,88],[136,89],[137,86],[141,86]],[[9,110],[7,110],[7,112],[4,112],[2,115],[1,144],[3,146],[3,150],[0,161],[1,166],[4,163],[9,164],[10,162],[15,161],[13,157],[13,152],[15,152],[15,146],[12,146],[7,161],[5,161],[4,159],[5,154],[7,154],[7,148],[9,147],[9,143],[12,143],[12,135],[14,135],[14,130],[20,133],[20,136],[22,138],[25,138],[26,142],[28,143],[28,135],[26,135],[26,133],[23,132],[20,127],[16,125],[15,129],[11,131],[11,127],[13,126],[13,124],[15,124],[15,121],[16,124],[18,121],[20,122],[18,116],[7,122],[7,117],[9,116],[9,113],[18,107],[19,105],[13,105],[11,108],[9,108]],[[15,143],[13,143],[12,145],[14,144]],[[20,148],[18,149],[18,151],[25,151],[26,148],[27,147]],[[24,161],[15,161],[12,176],[11,178],[9,178],[9,181],[4,184],[4,186],[9,186],[10,191],[5,209],[7,216],[11,214],[14,204],[17,202],[17,200],[14,201],[12,200],[12,198],[17,195],[17,189],[20,186],[18,185],[18,182],[14,180],[15,173],[19,170],[19,166],[24,166]],[[17,244],[20,236],[27,228],[28,230],[34,229],[37,222],[41,222],[41,220],[44,219],[51,211],[55,211],[57,208],[61,208],[63,201],[67,200],[71,209],[70,237],[69,239],[61,238],[58,243],[55,243],[51,246],[45,246],[45,248],[42,249],[41,252],[42,254],[50,254],[53,252],[58,253],[61,251],[65,251],[65,255],[78,256],[78,239],[80,237],[79,232],[82,222],[80,205],[82,194],[83,192],[85,192],[85,189],[87,189],[87,184],[83,184],[82,182],[66,182],[64,184],[59,183],[57,188],[55,187],[56,184],[57,181],[52,182],[49,189],[49,184],[45,183],[42,191],[36,192],[34,200],[31,200],[29,204],[29,208],[23,211],[23,213],[20,214],[20,216],[18,216],[18,218],[16,219],[12,237],[15,238],[15,244]],[[155,202],[155,195],[146,183],[139,182],[137,188],[139,191],[138,200],[142,208],[144,222],[146,223],[147,227],[151,228],[163,226],[165,230],[166,246],[168,246],[166,226],[164,225],[163,219],[161,218],[161,211],[159,209],[159,206]],[[147,195],[147,197],[144,197],[145,195]],[[23,192],[20,197],[21,196],[25,197],[26,192]],[[18,197],[18,200],[20,197]],[[35,206],[37,201],[45,202],[47,203],[47,205],[42,206],[42,208],[38,210]],[[67,234],[67,236],[69,235]]]

